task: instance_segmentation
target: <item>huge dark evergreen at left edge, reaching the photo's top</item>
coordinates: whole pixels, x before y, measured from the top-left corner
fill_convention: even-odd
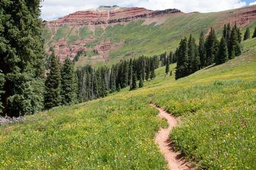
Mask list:
[[[1,1],[0,18],[0,70],[5,79],[2,115],[39,112],[44,91],[40,1]]]

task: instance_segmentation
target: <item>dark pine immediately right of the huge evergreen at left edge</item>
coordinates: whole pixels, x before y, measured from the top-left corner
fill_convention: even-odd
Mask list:
[[[49,73],[45,81],[44,108],[51,109],[61,104],[61,73],[59,59],[51,54]]]

